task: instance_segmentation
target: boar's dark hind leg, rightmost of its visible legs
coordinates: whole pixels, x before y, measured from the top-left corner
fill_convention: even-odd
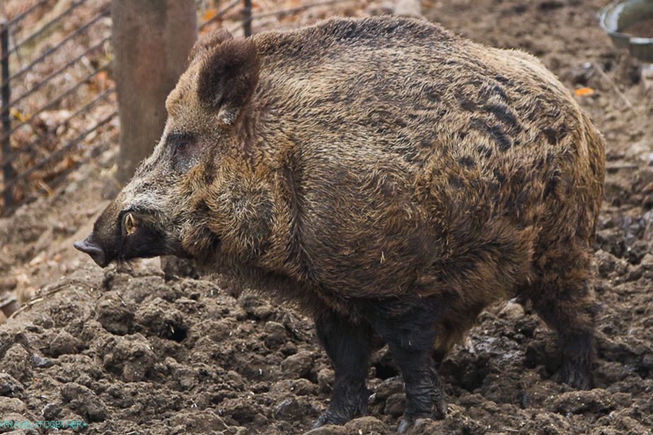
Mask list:
[[[579,267],[581,254],[568,261],[567,271],[552,268],[531,294],[533,308],[553,328],[562,348],[562,381],[574,388],[592,387],[596,303],[588,283],[588,268]],[[589,262],[588,262],[589,263]]]

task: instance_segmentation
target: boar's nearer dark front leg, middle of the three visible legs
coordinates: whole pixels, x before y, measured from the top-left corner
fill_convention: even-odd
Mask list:
[[[444,390],[434,367],[432,352],[443,304],[420,299],[412,306],[381,304],[371,316],[374,331],[388,343],[403,376],[406,409],[399,426],[405,432],[415,419],[444,418]],[[400,313],[400,314],[399,314]]]

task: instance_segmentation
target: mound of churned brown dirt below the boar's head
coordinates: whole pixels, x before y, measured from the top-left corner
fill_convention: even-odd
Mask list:
[[[0,409],[13,410],[4,419],[236,434],[278,418],[293,432],[326,398],[317,379],[327,364],[306,320],[258,298],[166,282],[154,268],[91,266],[44,292],[47,302],[0,331]]]

